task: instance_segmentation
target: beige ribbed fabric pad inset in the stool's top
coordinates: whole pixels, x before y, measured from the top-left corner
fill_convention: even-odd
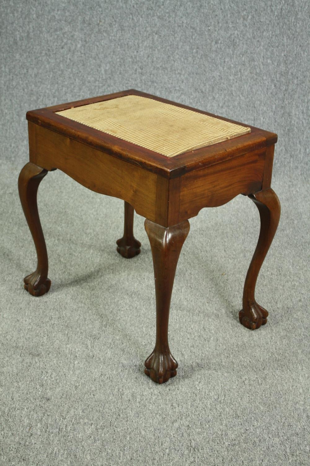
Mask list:
[[[167,157],[251,132],[251,128],[140,96],[57,113]]]

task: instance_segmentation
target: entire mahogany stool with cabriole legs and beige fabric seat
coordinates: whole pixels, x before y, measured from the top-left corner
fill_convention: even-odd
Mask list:
[[[177,374],[168,344],[171,291],[188,219],[238,194],[252,199],[261,227],[244,283],[244,327],[258,329],[268,312],[255,301],[257,275],[276,233],[280,203],[270,188],[277,135],[134,89],[55,105],[26,114],[29,162],[20,172],[20,201],[38,265],[24,279],[33,296],[47,293],[46,244],[37,190],[59,169],[92,191],[125,201],[124,236],[117,251],[139,254],[134,210],[145,217],[155,275],[156,343],[145,374],[162,384]]]

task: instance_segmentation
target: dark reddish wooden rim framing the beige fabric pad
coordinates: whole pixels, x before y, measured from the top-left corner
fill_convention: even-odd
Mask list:
[[[205,146],[194,151],[187,151],[183,154],[178,154],[175,157],[169,158],[159,154],[158,152],[150,151],[141,146],[132,144],[123,139],[119,139],[118,137],[109,135],[103,131],[96,130],[55,113],[60,110],[87,105],[89,103],[102,102],[104,100],[127,95],[152,98],[159,102],[170,103],[172,105],[196,111],[224,121],[237,123],[242,126],[249,126],[251,128],[251,133],[234,137],[221,143]],[[105,96],[97,96],[90,99],[54,105],[43,109],[30,110],[26,113],[26,118],[28,121],[63,134],[64,136],[77,140],[82,144],[90,145],[95,149],[126,160],[129,163],[137,164],[140,167],[145,168],[145,170],[152,171],[164,178],[170,179],[177,178],[185,172],[204,168],[232,157],[244,155],[247,152],[267,147],[277,142],[277,135],[275,133],[261,130],[254,126],[236,122],[228,118],[219,117],[218,115],[163,99],[158,96],[153,96],[152,94],[147,94],[136,89],[128,89]]]

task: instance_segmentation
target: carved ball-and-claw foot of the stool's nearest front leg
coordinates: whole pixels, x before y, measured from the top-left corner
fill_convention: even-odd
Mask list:
[[[160,353],[154,349],[145,361],[144,373],[157,384],[167,382],[177,375],[178,363],[171,353]]]

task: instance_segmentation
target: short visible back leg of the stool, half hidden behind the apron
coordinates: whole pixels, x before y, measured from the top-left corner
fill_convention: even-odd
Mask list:
[[[125,201],[124,235],[116,241],[117,252],[126,259],[140,254],[140,241],[133,236],[133,207]]]

